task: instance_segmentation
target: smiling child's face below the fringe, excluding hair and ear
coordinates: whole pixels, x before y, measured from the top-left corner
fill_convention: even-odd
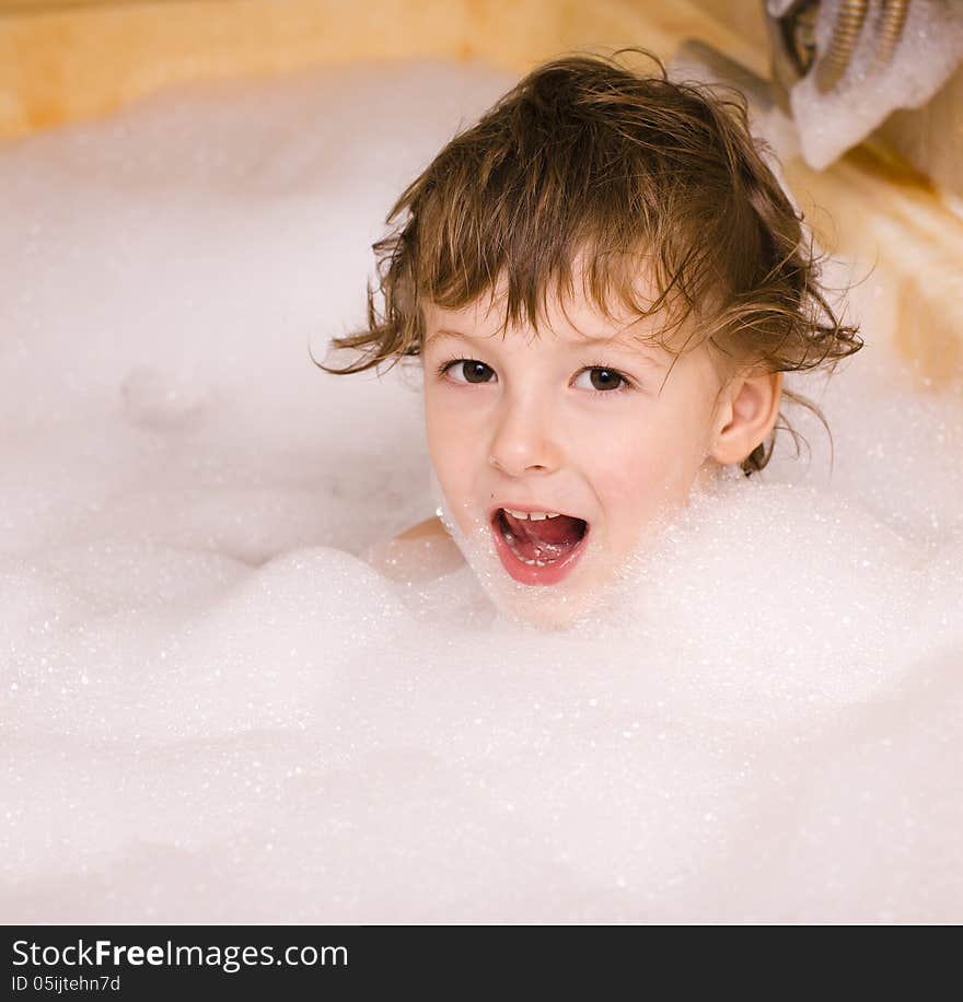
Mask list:
[[[666,381],[672,354],[639,340],[653,319],[613,322],[584,301],[564,313],[556,302],[548,329],[509,327],[502,338],[487,307],[425,310],[428,446],[483,581],[520,618],[564,625],[718,469],[721,383],[705,346]],[[573,516],[587,531],[502,509]]]

